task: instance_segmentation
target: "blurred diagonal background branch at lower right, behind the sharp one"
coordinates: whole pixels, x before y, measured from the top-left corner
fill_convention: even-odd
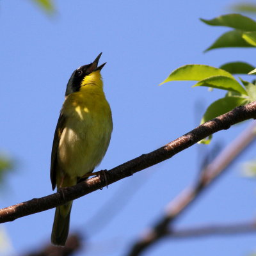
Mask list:
[[[188,209],[188,206],[201,195],[210,184],[220,177],[220,174],[227,170],[227,166],[243,152],[255,140],[256,122],[250,124],[248,129],[236,138],[228,147],[226,147],[213,161],[205,166],[195,185],[184,189],[170,204],[166,207],[166,213],[157,221],[154,227],[148,229],[141,239],[133,244],[129,256],[138,256],[149,246],[156,244],[157,241],[170,234],[170,225],[180,216],[182,212]]]

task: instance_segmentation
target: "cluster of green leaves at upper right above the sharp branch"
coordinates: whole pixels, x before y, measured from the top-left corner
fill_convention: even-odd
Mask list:
[[[210,51],[223,47],[256,47],[256,22],[240,14],[227,14],[212,20],[200,19],[210,26],[226,26],[233,28],[221,35],[209,48]],[[237,106],[241,106],[256,100],[255,81],[244,81],[236,74],[256,74],[256,68],[243,61],[225,63],[219,68],[208,65],[184,65],[177,68],[163,81],[196,81],[193,87],[207,86],[225,90],[225,97],[213,102],[205,111],[201,124],[227,113]],[[202,140],[201,143],[209,143],[211,138]]]

